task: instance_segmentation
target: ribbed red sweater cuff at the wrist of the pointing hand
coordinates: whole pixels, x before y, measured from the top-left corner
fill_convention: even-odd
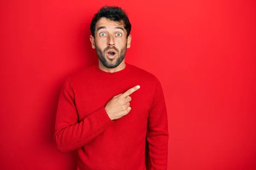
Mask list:
[[[113,121],[109,118],[108,113],[106,112],[105,108],[102,107],[98,111],[94,113],[94,116],[96,117],[99,126],[102,128],[107,127],[109,124],[111,124]]]

